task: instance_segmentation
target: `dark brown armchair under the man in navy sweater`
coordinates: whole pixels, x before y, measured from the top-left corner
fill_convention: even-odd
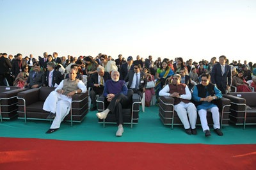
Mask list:
[[[136,93],[132,94],[131,89],[128,89],[127,97],[129,97],[132,102],[131,104],[129,104],[129,107],[122,109],[123,120],[124,120],[124,124],[131,124],[131,128],[132,128],[133,124],[138,124],[141,101],[138,94]],[[101,95],[97,99],[97,103],[98,103],[99,112],[102,112],[106,109],[104,105],[103,95]],[[105,123],[116,123],[115,114],[113,114],[112,112],[109,112],[107,118],[104,120],[99,119],[98,123],[103,123],[103,127],[105,127]]]

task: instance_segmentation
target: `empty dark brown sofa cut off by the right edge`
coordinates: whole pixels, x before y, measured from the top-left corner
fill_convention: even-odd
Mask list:
[[[256,92],[231,92],[223,96],[231,101],[230,122],[244,125],[244,128],[245,125],[256,125]]]

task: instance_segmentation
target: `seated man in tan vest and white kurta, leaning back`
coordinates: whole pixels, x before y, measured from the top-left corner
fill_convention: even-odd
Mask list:
[[[76,79],[76,70],[69,72],[69,78],[60,82],[44,102],[44,111],[50,112],[47,119],[54,118],[51,128],[46,134],[51,134],[60,128],[60,123],[68,115],[71,107],[72,96],[76,93],[85,93],[86,86],[83,81]]]

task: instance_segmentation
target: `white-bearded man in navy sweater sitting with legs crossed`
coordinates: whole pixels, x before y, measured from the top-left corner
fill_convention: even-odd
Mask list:
[[[107,109],[96,114],[99,119],[107,118],[110,111],[115,114],[118,125],[116,136],[122,136],[124,132],[122,107],[128,107],[129,103],[131,103],[131,98],[128,97],[130,95],[127,95],[128,89],[125,81],[120,81],[119,76],[119,72],[114,70],[111,73],[111,80],[105,82],[103,95]]]

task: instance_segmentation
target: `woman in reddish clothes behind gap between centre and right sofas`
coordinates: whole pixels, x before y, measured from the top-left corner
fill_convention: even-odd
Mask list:
[[[143,72],[147,75],[147,82],[154,82],[154,75],[151,75],[147,67],[143,68]],[[148,83],[149,84],[149,83]],[[145,91],[145,106],[149,107],[152,96],[155,95],[154,87],[147,88]]]

